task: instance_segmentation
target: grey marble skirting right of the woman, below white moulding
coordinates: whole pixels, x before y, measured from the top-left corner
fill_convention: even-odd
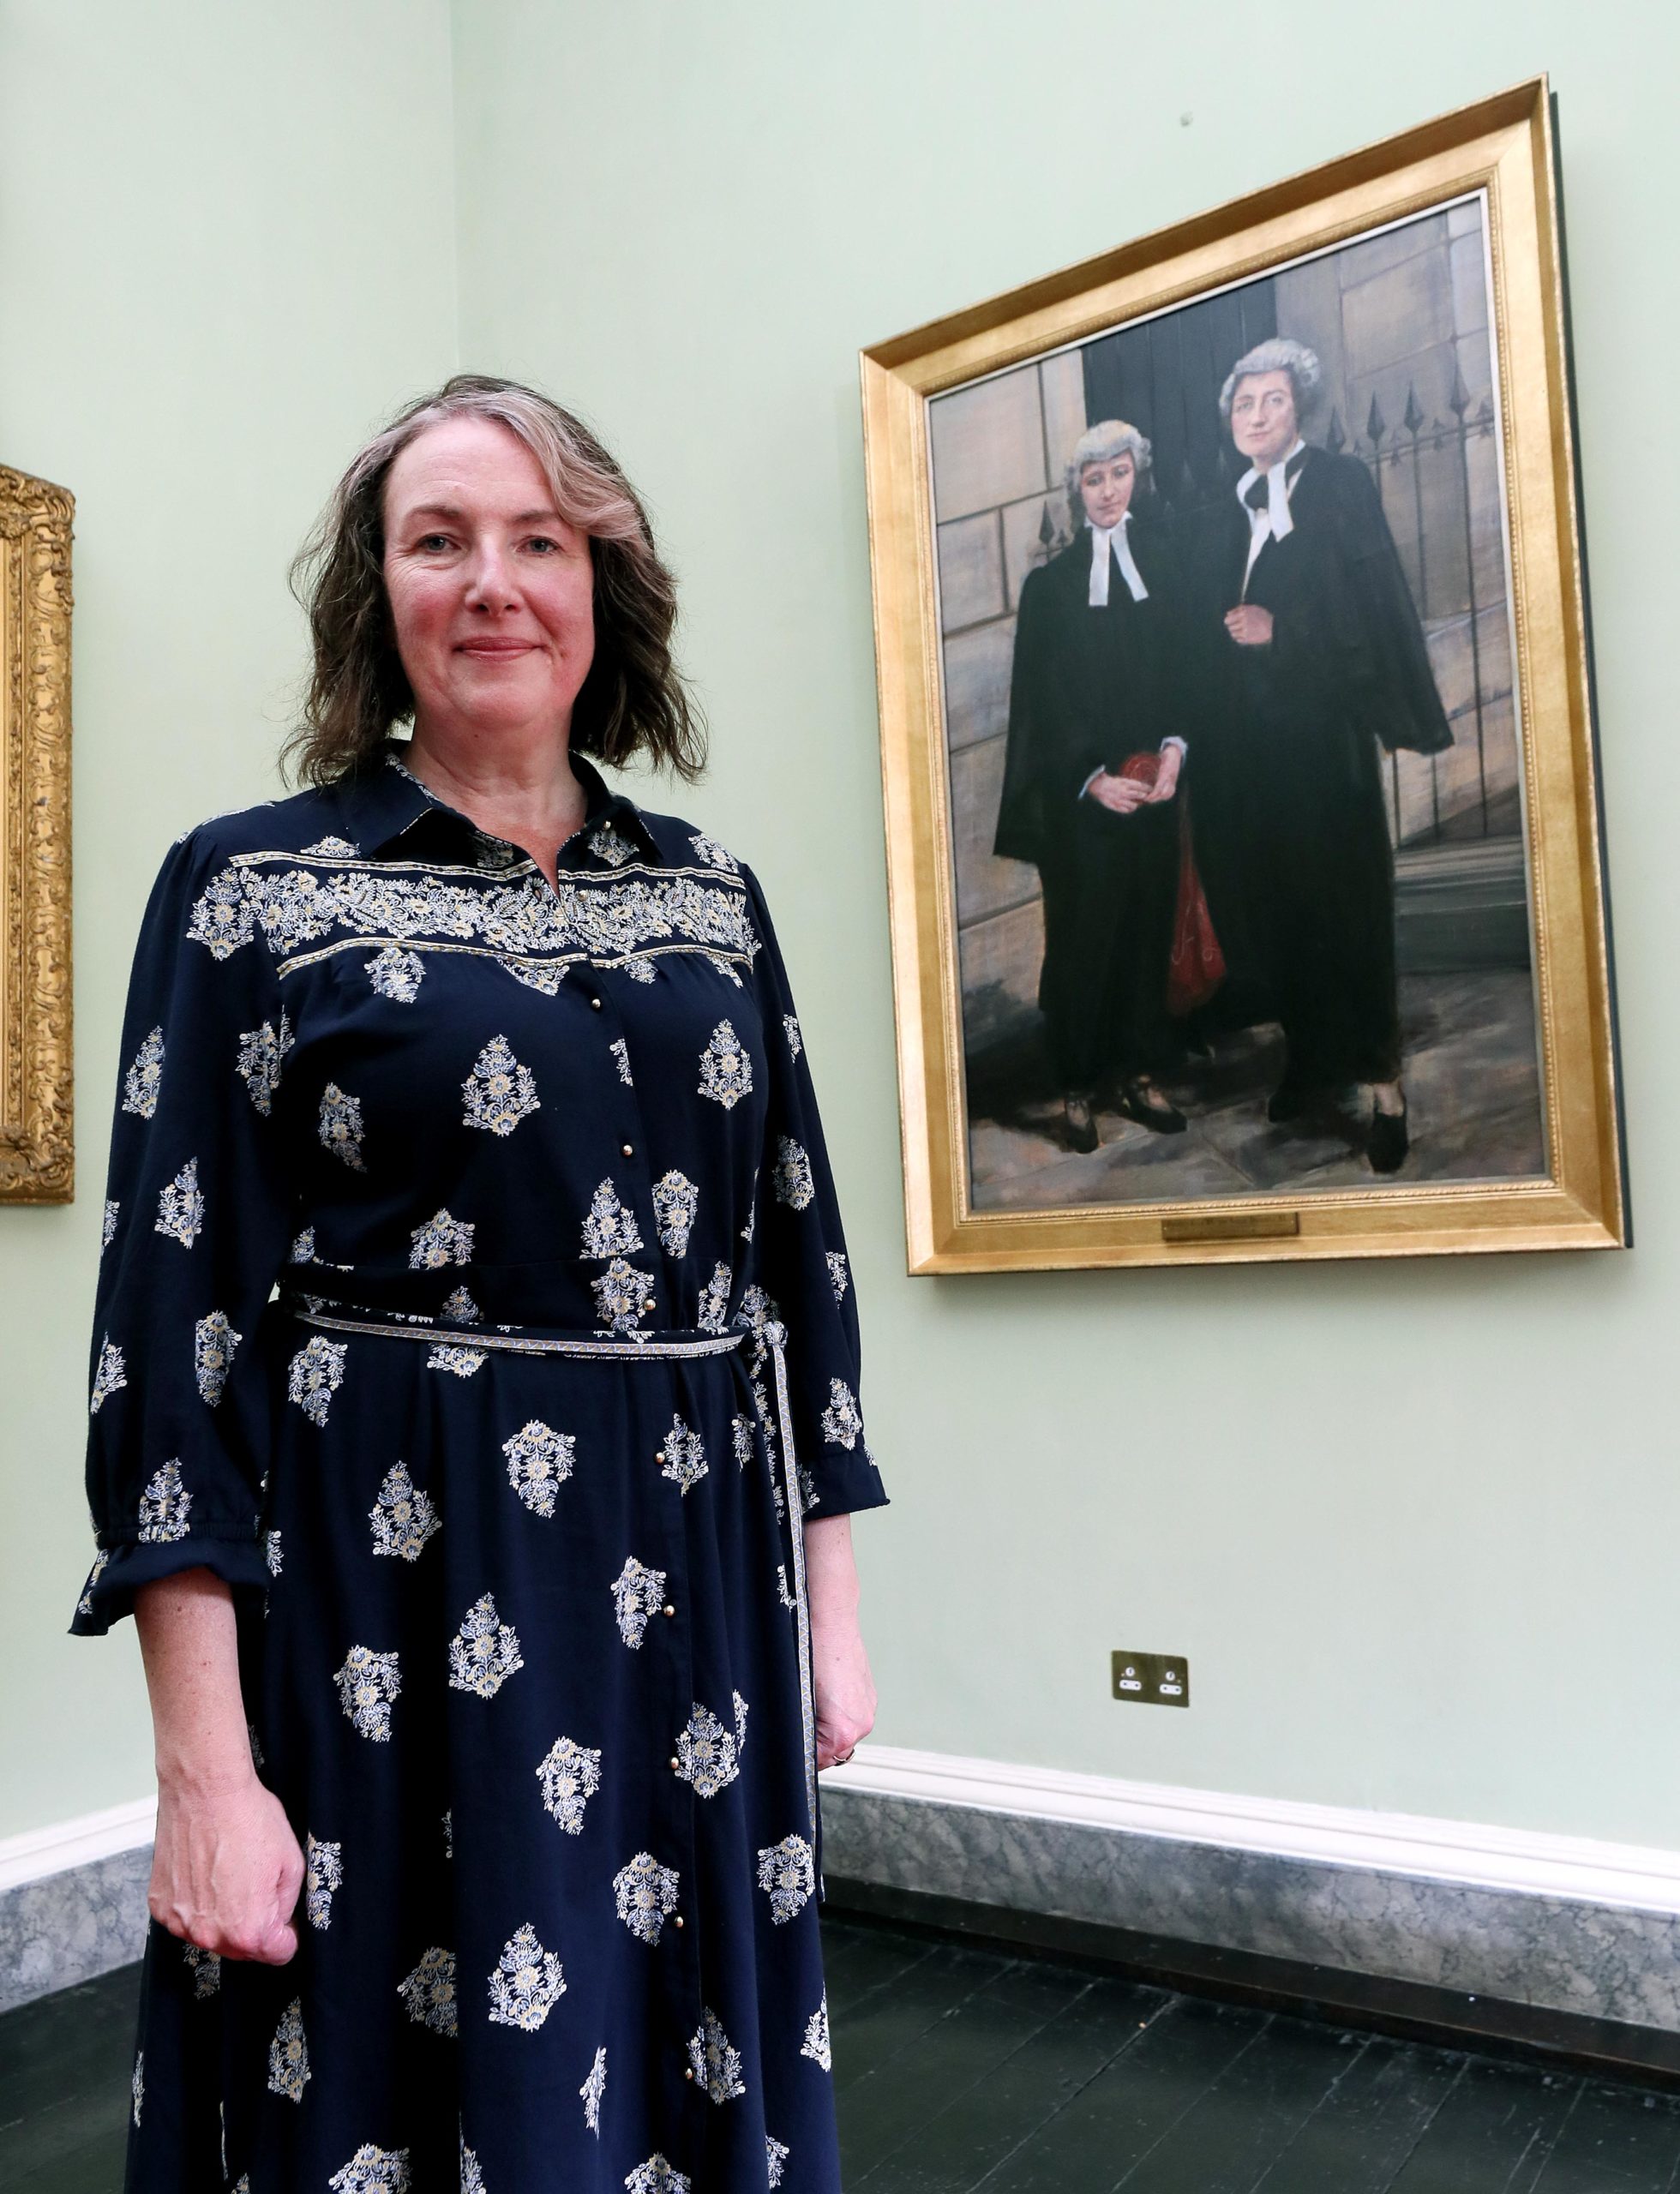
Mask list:
[[[1680,2032],[1680,1915],[829,1790],[822,1871]]]

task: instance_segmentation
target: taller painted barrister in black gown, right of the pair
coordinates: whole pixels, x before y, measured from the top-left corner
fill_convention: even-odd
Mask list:
[[[1250,470],[1195,553],[1195,849],[1213,921],[1283,1025],[1268,1117],[1373,1093],[1369,1158],[1406,1158],[1395,862],[1382,753],[1452,744],[1382,500],[1355,456],[1301,439],[1316,355],[1272,338],[1219,408]]]

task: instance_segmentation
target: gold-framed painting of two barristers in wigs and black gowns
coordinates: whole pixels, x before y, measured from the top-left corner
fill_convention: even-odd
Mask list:
[[[1627,1242],[1553,125],[864,351],[912,1273]]]

